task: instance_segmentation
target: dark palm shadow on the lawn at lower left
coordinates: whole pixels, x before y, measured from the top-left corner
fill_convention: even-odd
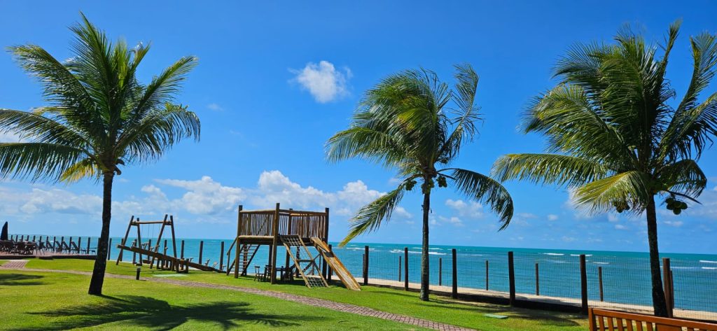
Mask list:
[[[207,302],[171,305],[166,301],[140,296],[105,297],[106,302],[83,304],[47,312],[29,312],[47,318],[43,330],[67,330],[76,327],[100,327],[113,322],[128,322],[135,327],[151,330],[171,330],[193,320],[217,325],[224,330],[239,329],[242,324],[266,327],[298,326],[298,321],[314,320],[300,315],[272,315],[253,312],[247,302]],[[70,318],[67,318],[70,317]],[[37,330],[20,328],[14,330]]]

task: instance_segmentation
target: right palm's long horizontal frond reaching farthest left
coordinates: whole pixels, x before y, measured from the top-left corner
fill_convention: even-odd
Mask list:
[[[491,173],[498,181],[518,179],[543,185],[581,186],[612,171],[599,162],[570,155],[506,154],[495,160]]]

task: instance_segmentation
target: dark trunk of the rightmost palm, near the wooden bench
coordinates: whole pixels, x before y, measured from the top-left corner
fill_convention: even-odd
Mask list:
[[[647,241],[650,245],[650,276],[652,277],[652,307],[655,316],[668,317],[668,308],[663,291],[663,280],[660,270],[660,251],[657,250],[657,214],[655,213],[655,196],[647,201]]]

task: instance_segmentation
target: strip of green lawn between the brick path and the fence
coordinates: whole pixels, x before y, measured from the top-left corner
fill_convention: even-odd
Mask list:
[[[57,259],[37,260],[33,259],[27,264],[27,268],[42,269],[72,269],[92,270],[92,261]],[[133,275],[136,267],[132,264],[121,264],[115,266],[114,262],[108,264],[108,272],[112,274]],[[173,272],[162,272],[156,269],[143,267],[142,277],[153,277],[153,274],[172,274]],[[380,287],[363,287],[361,292],[353,292],[343,287],[331,287],[328,289],[309,289],[303,286],[303,282],[293,284],[271,285],[265,282],[253,282],[252,277],[234,277],[212,272],[190,272],[181,279],[212,284],[227,284],[242,287],[255,287],[270,289],[278,292],[301,294],[308,297],[319,297],[336,302],[346,302],[364,307],[371,307],[385,312],[394,312],[402,315],[410,315],[426,320],[435,320],[453,325],[471,327],[478,330],[586,330],[587,320],[579,315],[571,315],[559,312],[544,312],[540,310],[514,309],[497,304],[465,304],[454,302],[445,297],[432,296],[430,302],[422,302],[418,294],[404,292],[397,289],[386,289]],[[485,317],[485,314],[508,315],[505,320],[496,320]]]

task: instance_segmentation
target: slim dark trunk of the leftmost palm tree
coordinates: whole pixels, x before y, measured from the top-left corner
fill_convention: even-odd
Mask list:
[[[112,181],[114,173],[104,174],[104,189],[102,201],[102,232],[97,242],[97,258],[95,268],[92,269],[90,279],[90,294],[101,295],[102,285],[105,282],[105,268],[107,267],[107,249],[110,240],[110,219],[112,219]]]

